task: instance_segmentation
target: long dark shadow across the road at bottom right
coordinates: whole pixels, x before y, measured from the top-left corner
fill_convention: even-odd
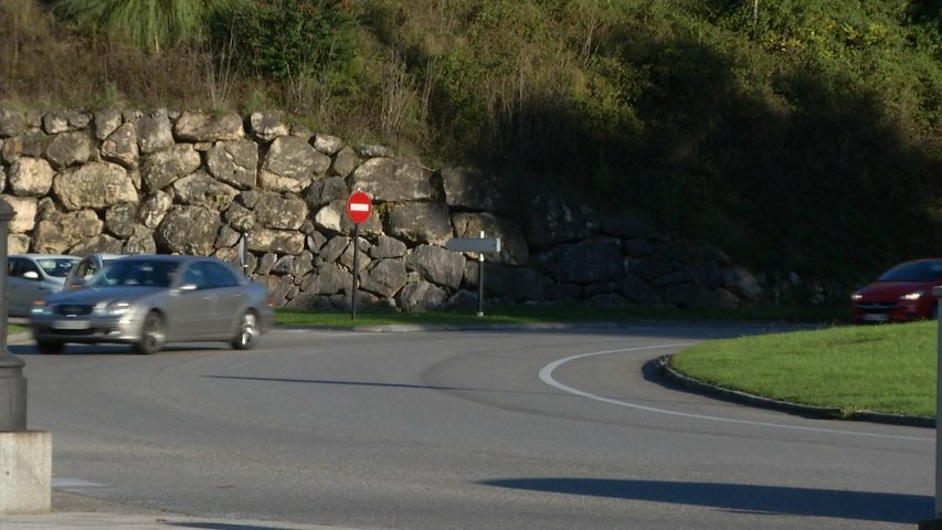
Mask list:
[[[933,513],[933,498],[920,495],[740,484],[551,477],[494,479],[479,484],[530,491],[703,506],[728,511],[892,523],[915,524]]]

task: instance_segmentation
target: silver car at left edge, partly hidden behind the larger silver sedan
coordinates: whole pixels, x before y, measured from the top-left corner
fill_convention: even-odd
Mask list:
[[[62,290],[77,256],[13,254],[7,256],[7,314],[28,317],[33,300]]]

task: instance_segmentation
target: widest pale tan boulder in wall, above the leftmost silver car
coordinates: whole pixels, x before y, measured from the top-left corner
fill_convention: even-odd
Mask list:
[[[52,191],[66,210],[104,210],[121,202],[138,202],[127,170],[110,162],[70,168],[55,177]]]

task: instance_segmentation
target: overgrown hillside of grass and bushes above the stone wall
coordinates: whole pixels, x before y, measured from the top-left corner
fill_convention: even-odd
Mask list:
[[[0,2],[0,105],[279,108],[834,299],[942,243],[938,2],[116,3]]]

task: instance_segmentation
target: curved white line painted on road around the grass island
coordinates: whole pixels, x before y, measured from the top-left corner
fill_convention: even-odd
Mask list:
[[[689,413],[689,412],[669,411],[666,409],[657,409],[654,406],[639,405],[637,403],[631,403],[627,401],[613,400],[611,398],[605,398],[602,395],[595,395],[595,394],[592,394],[589,392],[581,391],[579,389],[574,389],[574,388],[565,385],[565,384],[562,384],[559,381],[557,381],[555,379],[553,379],[553,371],[555,371],[555,369],[558,369],[559,367],[561,367],[561,365],[563,365],[570,361],[575,361],[579,359],[585,359],[588,357],[595,357],[595,356],[607,356],[607,354],[612,354],[612,353],[628,353],[628,352],[634,352],[634,351],[657,350],[657,349],[667,349],[667,348],[681,348],[685,346],[691,346],[691,343],[681,342],[681,343],[675,343],[675,344],[643,346],[643,347],[638,347],[638,348],[625,348],[625,349],[620,349],[620,350],[593,351],[591,353],[581,353],[578,356],[567,357],[564,359],[559,359],[559,360],[553,361],[553,362],[547,364],[546,367],[543,367],[543,369],[540,370],[540,380],[542,380],[544,383],[549,384],[550,386],[554,386],[559,390],[562,390],[564,392],[569,392],[569,393],[574,394],[574,395],[579,395],[581,398],[601,401],[602,403],[608,403],[611,405],[625,406],[625,407],[634,409],[637,411],[652,412],[655,414],[664,414],[664,415],[668,415],[668,416],[688,417],[688,418],[692,418],[692,420],[703,420],[703,421],[708,421],[708,422],[733,423],[733,424],[738,424],[738,425],[751,425],[751,426],[759,426],[759,427],[785,428],[785,430],[791,430],[791,431],[805,431],[805,432],[828,433],[828,434],[845,434],[845,435],[850,435],[850,436],[869,436],[869,437],[874,437],[874,438],[910,439],[910,441],[919,441],[919,442],[934,442],[935,441],[935,438],[929,438],[929,437],[923,437],[923,436],[903,436],[903,435],[896,435],[896,434],[860,433],[860,432],[855,432],[855,431],[840,431],[840,430],[836,430],[836,428],[806,427],[806,426],[801,426],[801,425],[785,425],[785,424],[781,424],[781,423],[753,422],[753,421],[749,421],[749,420],[735,420],[735,418],[731,418],[731,417],[710,416],[710,415],[706,415],[706,414],[694,414],[694,413]]]

